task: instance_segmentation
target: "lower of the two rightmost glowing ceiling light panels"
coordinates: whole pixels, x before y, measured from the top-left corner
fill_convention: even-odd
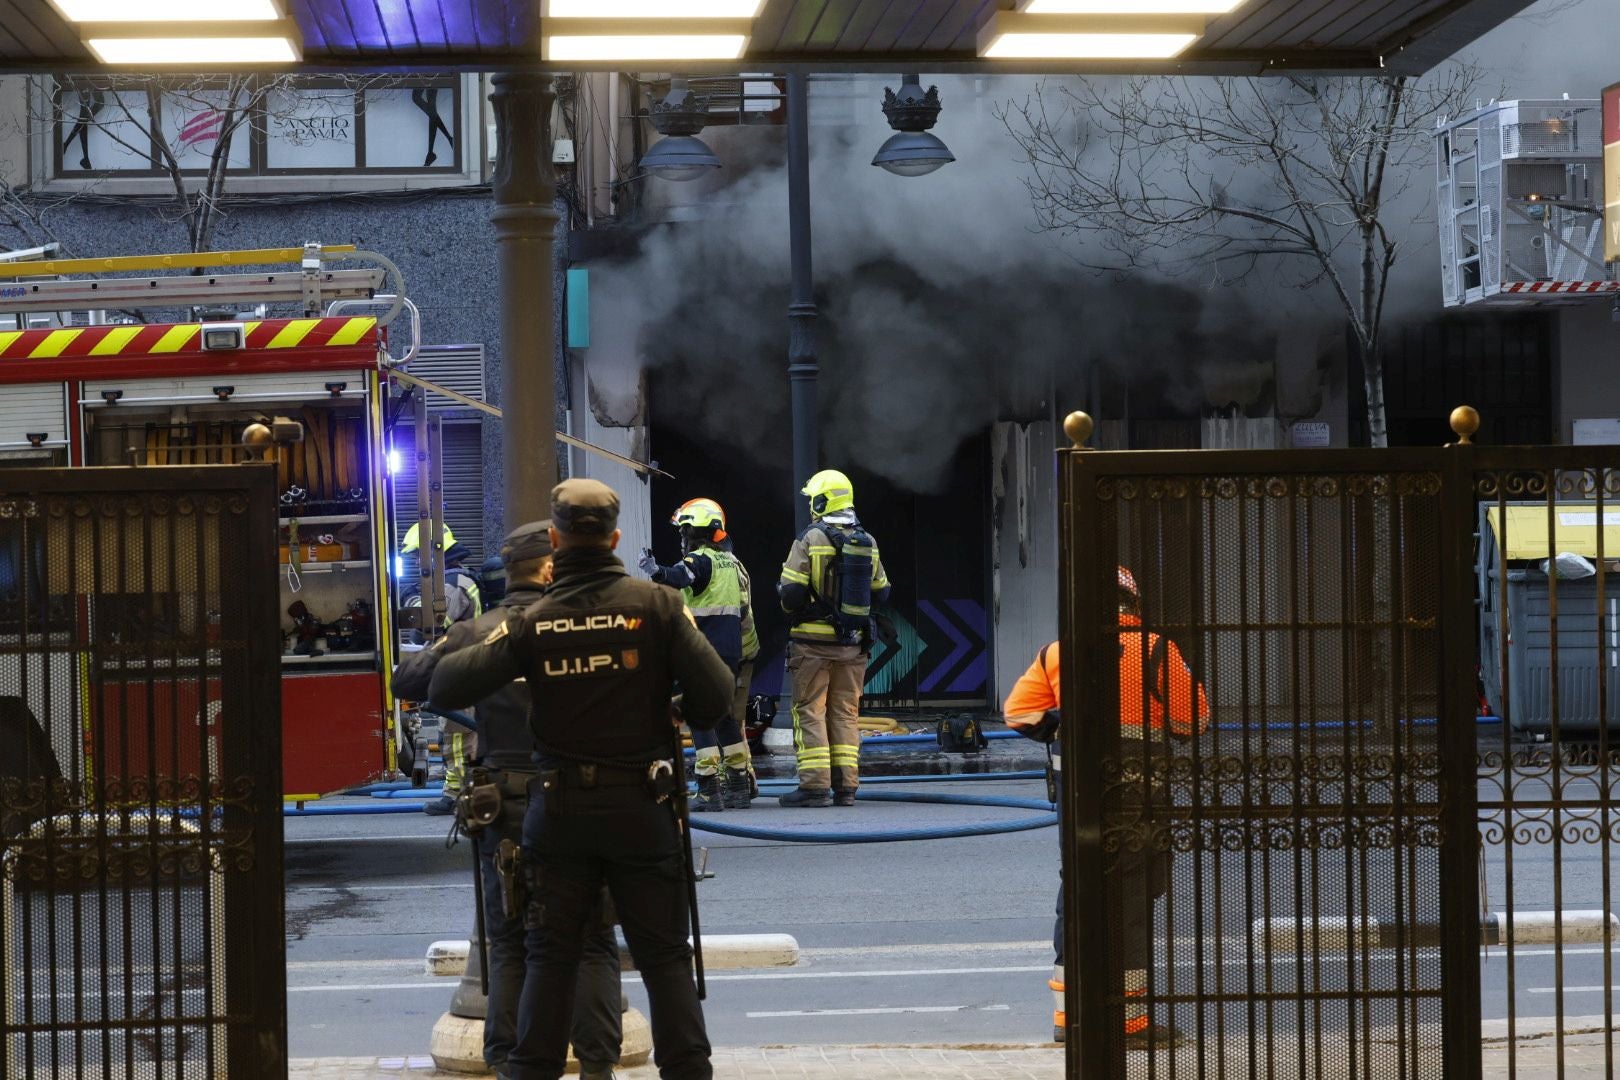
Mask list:
[[[1197,15],[996,11],[978,31],[988,60],[1166,60],[1204,36]]]

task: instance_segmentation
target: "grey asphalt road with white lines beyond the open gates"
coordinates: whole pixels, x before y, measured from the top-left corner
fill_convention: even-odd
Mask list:
[[[894,789],[888,789],[894,790]],[[1035,782],[932,784],[930,792],[1040,797]],[[852,810],[787,811],[763,801],[721,821],[760,826],[919,827],[1027,816],[1029,811],[862,803]],[[424,976],[437,939],[471,936],[470,848],[446,850],[447,821],[421,814],[306,818],[287,823],[290,1041],[295,1057],[420,1054],[449,1004],[452,981]],[[910,844],[776,844],[700,834],[716,873],[701,889],[708,934],[789,933],[804,949],[791,970],[714,972],[706,1015],[716,1044],[766,1043],[1022,1043],[1050,1036],[1051,905],[1056,832]],[[1565,907],[1602,905],[1594,850],[1567,852]],[[1515,852],[1521,908],[1550,899],[1550,850]],[[1492,879],[1500,871],[1492,866]],[[1494,907],[1502,905],[1500,889]],[[1234,916],[1241,923],[1241,913]],[[1176,984],[1221,972],[1228,991],[1293,984],[1291,959],[1251,968],[1230,939],[1217,963],[1192,942],[1171,950]],[[1482,954],[1484,1015],[1507,1015],[1507,950]],[[1601,944],[1513,952],[1516,1015],[1601,1014]],[[1392,954],[1374,957],[1390,972]],[[1435,950],[1414,975],[1432,980]],[[1558,965],[1562,963],[1562,973]],[[1620,965],[1620,960],[1615,960]],[[1343,981],[1343,957],[1327,959]],[[1165,986],[1166,967],[1155,973]],[[1557,989],[1563,988],[1558,994]],[[645,1010],[633,976],[632,1001]],[[1247,1006],[1228,1009],[1239,1023]],[[1265,1007],[1256,1012],[1264,1020]],[[1191,1028],[1191,1015],[1178,1015]],[[1207,1017],[1207,1022],[1209,1017]],[[1298,1010],[1275,1007],[1272,1027],[1293,1030]]]

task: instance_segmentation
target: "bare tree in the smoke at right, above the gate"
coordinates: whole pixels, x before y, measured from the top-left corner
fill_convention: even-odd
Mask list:
[[[1379,337],[1400,253],[1385,219],[1429,175],[1413,167],[1435,118],[1461,112],[1474,83],[1461,65],[1424,79],[1079,79],[1042,84],[1001,120],[1029,157],[1040,227],[1097,241],[1098,264],[1207,267],[1220,282],[1270,264],[1288,285],[1332,290],[1382,447]]]

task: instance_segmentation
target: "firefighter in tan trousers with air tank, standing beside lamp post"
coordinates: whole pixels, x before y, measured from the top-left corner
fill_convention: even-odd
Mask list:
[[[799,787],[782,806],[854,806],[860,785],[860,691],[872,651],[872,606],[888,599],[878,542],[855,517],[855,487],[836,470],[804,486],[810,525],[776,583],[792,630],[794,746]]]

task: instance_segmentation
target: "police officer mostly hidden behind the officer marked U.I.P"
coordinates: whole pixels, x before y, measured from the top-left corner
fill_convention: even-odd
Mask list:
[[[551,521],[520,525],[501,546],[502,589],[497,607],[473,622],[458,622],[429,649],[407,656],[394,672],[394,691],[426,699],[439,661],[457,649],[476,644],[514,610],[522,612],[544,596],[551,583]],[[517,1009],[523,993],[525,952],[523,913],[507,913],[504,897],[510,884],[497,868],[501,842],[523,842],[523,813],[535,779],[535,733],[528,729],[528,688],[507,683],[475,708],[478,721],[478,767],[488,784],[501,792],[501,814],[473,834],[478,845],[484,891],[484,938],[489,942],[489,1001],[484,1007],[484,1062],[505,1069],[517,1043]],[[510,876],[512,868],[507,868]],[[585,938],[580,978],[573,1002],[573,1052],[580,1059],[580,1080],[612,1080],[622,1046],[619,989],[619,944],[612,923],[598,920]]]

